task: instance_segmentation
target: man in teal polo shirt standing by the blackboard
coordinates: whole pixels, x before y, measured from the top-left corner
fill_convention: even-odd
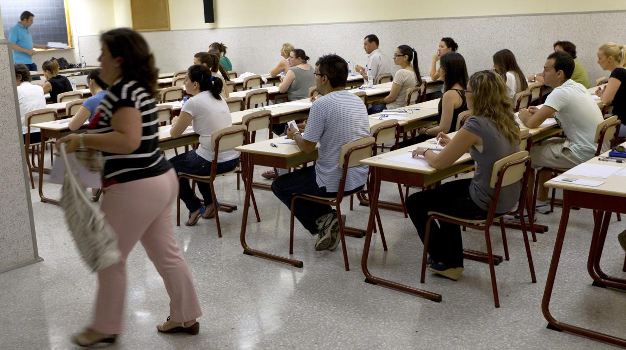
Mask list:
[[[37,64],[33,63],[33,48],[47,49],[47,45],[33,43],[33,36],[28,33],[28,28],[33,25],[35,15],[24,11],[19,16],[19,22],[9,31],[9,41],[13,48],[13,61],[15,64],[22,63],[29,71],[37,71]]]

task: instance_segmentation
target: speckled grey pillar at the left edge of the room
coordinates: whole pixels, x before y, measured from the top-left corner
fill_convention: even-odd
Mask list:
[[[27,190],[17,93],[8,41],[0,40],[0,272],[41,260]]]

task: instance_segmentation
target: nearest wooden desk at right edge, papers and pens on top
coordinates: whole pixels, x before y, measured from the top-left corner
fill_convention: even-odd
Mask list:
[[[622,145],[626,146],[626,143]],[[604,153],[603,156],[606,156]],[[589,164],[614,165],[626,169],[624,163],[600,162],[598,157],[589,160]],[[626,213],[626,187],[624,187],[624,177],[619,175],[611,175],[608,178],[591,178],[577,175],[567,175],[573,178],[587,178],[589,180],[603,181],[598,187],[575,185],[573,183],[555,182],[550,180],[545,183],[547,187],[560,188],[563,190],[563,212],[558,227],[557,240],[552,252],[552,260],[550,261],[550,269],[546,279],[546,287],[541,300],[541,311],[548,321],[548,328],[556,331],[566,331],[588,337],[598,341],[608,342],[617,346],[626,347],[626,339],[611,336],[609,334],[592,331],[583,327],[573,326],[565,322],[558,321],[550,312],[550,299],[552,298],[552,289],[557,277],[558,262],[563,249],[563,240],[565,240],[565,232],[570,217],[571,207],[589,208],[595,210],[595,225],[592,232],[591,246],[587,257],[587,272],[593,279],[593,286],[612,287],[626,291],[626,280],[612,277],[605,274],[600,268],[600,258],[604,242],[607,237],[608,225],[613,212]],[[598,291],[600,292],[600,291]],[[615,312],[620,312],[615,310]]]

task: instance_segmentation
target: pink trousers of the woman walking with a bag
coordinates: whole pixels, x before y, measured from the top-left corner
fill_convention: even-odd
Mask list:
[[[163,278],[170,296],[172,321],[186,322],[202,315],[192,275],[174,238],[172,202],[177,197],[177,191],[178,180],[174,170],[106,188],[101,209],[118,234],[122,260],[98,272],[98,299],[91,326],[96,332],[121,332],[126,294],[126,257],[137,241],[141,242]]]

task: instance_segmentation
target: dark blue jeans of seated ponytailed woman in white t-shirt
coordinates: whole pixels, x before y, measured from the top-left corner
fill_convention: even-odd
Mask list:
[[[187,173],[189,175],[198,176],[211,175],[211,162],[197,155],[195,150],[191,150],[189,152],[177,155],[176,157],[170,158],[170,163],[172,163],[172,165],[174,166],[174,170],[176,170],[177,173]],[[239,164],[239,158],[217,163],[217,173],[221,174],[225,172],[230,172],[230,170],[233,170],[237,167],[237,164]],[[210,185],[205,182],[197,182],[197,185],[198,190],[200,190],[200,193],[202,193],[202,198],[204,198],[204,205],[206,206],[213,204],[213,197],[211,197]],[[200,207],[202,207],[202,203],[200,203],[200,198],[196,197],[195,193],[193,193],[192,188],[189,185],[189,180],[187,178],[181,178],[180,180],[178,180],[178,191],[180,193],[180,199],[185,202],[185,205],[187,205],[187,209],[189,209],[189,212],[195,212]]]

